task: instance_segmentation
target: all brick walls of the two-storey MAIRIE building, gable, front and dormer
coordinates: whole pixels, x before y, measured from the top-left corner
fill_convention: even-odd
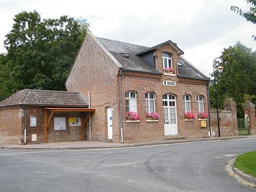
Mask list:
[[[177,52],[169,45],[164,45],[154,52],[156,68],[159,71],[162,67],[162,52],[173,55],[174,74],[177,75]],[[148,80],[129,79],[126,77],[147,78]],[[152,81],[153,80],[153,81]],[[160,114],[158,122],[146,122],[145,100],[146,92],[154,92],[154,80],[156,82],[156,112]],[[176,81],[176,87],[163,86],[163,80]],[[184,122],[183,117],[183,94],[191,95],[191,111],[197,114],[197,95],[205,98],[204,111],[207,109],[206,81],[181,79],[177,76],[151,75],[145,73],[122,72],[121,76],[121,97],[122,97],[122,121],[123,137],[125,142],[137,142],[147,140],[163,139],[163,105],[162,95],[173,94],[177,98],[177,121],[178,134],[185,137],[201,137],[208,135],[208,127],[202,129],[198,118],[193,122]],[[126,123],[125,119],[125,92],[134,90],[139,94],[137,100],[137,111],[141,116],[139,123]],[[70,76],[66,82],[68,91],[81,92],[88,99],[88,91],[91,92],[91,108],[96,109],[92,114],[92,140],[103,140],[108,138],[108,127],[106,120],[106,108],[113,108],[113,141],[120,142],[120,106],[119,106],[119,83],[118,67],[108,54],[106,54],[96,42],[87,35],[84,40],[77,59],[74,63]],[[89,138],[89,131],[86,132]]]

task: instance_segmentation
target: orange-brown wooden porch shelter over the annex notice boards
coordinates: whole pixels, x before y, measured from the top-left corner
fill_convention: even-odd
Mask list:
[[[84,141],[84,126],[89,121],[92,112],[95,109],[88,108],[43,108],[44,109],[44,131],[45,143],[48,143],[48,127],[51,122],[54,112],[83,112],[81,113],[81,140]],[[48,118],[48,114],[50,114]]]

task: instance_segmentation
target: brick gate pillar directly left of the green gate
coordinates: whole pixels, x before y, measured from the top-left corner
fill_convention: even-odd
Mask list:
[[[225,99],[224,110],[231,111],[231,114],[232,114],[231,129],[234,135],[238,135],[237,105],[236,103],[234,103],[233,99],[231,98]]]

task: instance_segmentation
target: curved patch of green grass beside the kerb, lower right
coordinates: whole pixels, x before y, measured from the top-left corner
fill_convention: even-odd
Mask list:
[[[256,152],[248,152],[238,156],[234,166],[256,178]]]

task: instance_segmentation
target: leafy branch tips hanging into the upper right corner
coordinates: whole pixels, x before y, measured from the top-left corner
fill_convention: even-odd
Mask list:
[[[246,2],[252,5],[249,11],[244,11],[237,6],[231,6],[230,10],[233,12],[237,12],[239,15],[244,17],[247,20],[247,22],[256,24],[256,0],[247,0]],[[252,38],[254,41],[256,40],[255,35],[252,35]]]

